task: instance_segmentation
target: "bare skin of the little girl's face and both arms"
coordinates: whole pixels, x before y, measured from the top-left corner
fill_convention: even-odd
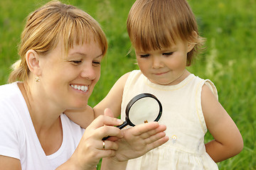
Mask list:
[[[191,74],[186,69],[186,60],[187,53],[192,49],[193,44],[179,40],[176,45],[163,50],[142,52],[135,47],[135,53],[139,69],[151,82],[171,86],[180,83]],[[110,108],[114,117],[119,116],[124,84],[128,77],[129,73],[124,74],[109,94],[93,108],[96,118],[102,115],[104,108]],[[203,85],[201,105],[207,128],[214,137],[213,141],[206,144],[206,152],[210,157],[215,162],[221,162],[241,152],[243,142],[237,126],[206,85]],[[75,116],[71,119],[78,120]],[[82,125],[82,122],[78,123]]]

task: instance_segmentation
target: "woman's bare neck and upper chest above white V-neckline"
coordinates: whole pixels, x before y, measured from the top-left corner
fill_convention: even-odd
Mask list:
[[[26,101],[36,135],[43,151],[46,155],[55,153],[63,141],[60,114],[53,114],[53,111],[49,111],[48,107],[45,106],[45,102],[33,96],[33,91],[26,86],[26,83],[19,82],[18,87]]]

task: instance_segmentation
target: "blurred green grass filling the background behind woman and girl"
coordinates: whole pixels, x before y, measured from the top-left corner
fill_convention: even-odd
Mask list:
[[[0,84],[6,84],[9,67],[17,60],[17,44],[24,18],[46,1],[0,1]],[[64,1],[67,2],[67,1]],[[90,97],[95,106],[122,74],[137,69],[126,18],[132,1],[70,0],[102,25],[109,41],[102,75]],[[218,164],[221,170],[256,169],[256,1],[189,0],[207,50],[189,68],[217,86],[219,101],[238,125],[245,147],[237,156]],[[206,141],[211,140],[206,135]]]

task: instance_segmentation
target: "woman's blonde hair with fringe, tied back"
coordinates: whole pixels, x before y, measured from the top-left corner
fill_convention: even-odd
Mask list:
[[[26,52],[35,50],[44,55],[53,50],[60,40],[68,52],[73,45],[98,42],[102,55],[107,52],[107,38],[100,24],[85,11],[60,1],[50,1],[28,16],[26,26],[21,34],[18,55],[21,57],[13,64],[9,82],[25,81],[29,69],[26,63]]]

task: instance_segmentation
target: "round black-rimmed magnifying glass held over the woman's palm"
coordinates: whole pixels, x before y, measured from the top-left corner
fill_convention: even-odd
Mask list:
[[[127,125],[135,126],[143,123],[157,122],[161,118],[162,106],[153,94],[139,94],[132,98],[125,110],[125,121],[117,128],[122,129]],[[102,140],[107,140],[103,137]]]

